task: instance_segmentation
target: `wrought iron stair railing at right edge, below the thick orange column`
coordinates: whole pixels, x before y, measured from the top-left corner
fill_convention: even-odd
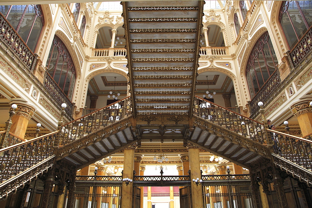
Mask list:
[[[312,141],[268,129],[273,140],[274,153],[303,166],[312,169]]]

